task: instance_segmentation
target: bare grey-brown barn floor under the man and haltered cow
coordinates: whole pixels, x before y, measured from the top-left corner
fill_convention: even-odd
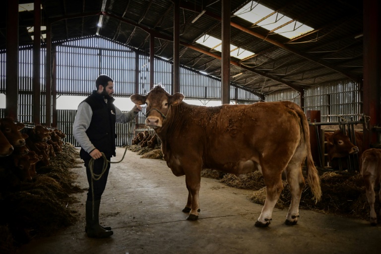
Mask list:
[[[119,161],[124,148],[118,148]],[[287,210],[275,209],[268,228],[256,228],[262,205],[249,200],[252,191],[201,178],[199,219],[187,221],[185,177],[176,177],[166,163],[141,159],[127,151],[112,164],[100,208],[103,225],[114,235],[90,239],[84,232],[86,195],[75,194],[78,221],[51,237],[33,239],[20,254],[379,254],[381,225],[368,218],[348,219],[301,210],[298,224],[284,224]],[[77,184],[87,186],[85,169],[72,169]],[[368,205],[368,204],[365,204]]]

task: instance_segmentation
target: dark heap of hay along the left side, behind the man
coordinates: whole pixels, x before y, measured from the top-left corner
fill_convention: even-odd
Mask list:
[[[23,182],[21,189],[0,193],[0,253],[15,253],[17,246],[35,236],[48,236],[76,221],[74,210],[66,208],[77,202],[70,196],[83,192],[74,184],[78,168],[78,151],[66,143],[63,151],[51,157],[50,166],[36,169],[32,182]]]

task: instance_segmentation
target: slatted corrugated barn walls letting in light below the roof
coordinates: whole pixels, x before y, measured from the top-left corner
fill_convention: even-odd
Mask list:
[[[57,46],[57,95],[89,95],[95,89],[94,81],[100,74],[107,74],[118,84],[115,93],[129,97],[135,93],[135,70],[138,69],[138,88],[140,94],[149,92],[149,56],[136,54],[132,49],[91,37],[71,41]],[[5,93],[5,53],[0,53],[0,92]],[[138,57],[138,66],[135,58]],[[32,50],[20,50],[19,53],[19,121],[32,123],[33,113],[33,70]],[[41,119],[45,122],[45,49],[41,50]],[[155,59],[154,84],[162,85],[169,93],[172,91],[172,64]],[[201,75],[189,68],[180,68],[180,92],[189,99],[220,100],[221,81]],[[253,103],[260,98],[246,90],[231,87],[231,101],[234,103]],[[282,90],[266,96],[266,101],[290,100],[300,103],[299,93],[295,90]],[[316,85],[305,90],[305,111],[320,110],[323,122],[337,121],[340,115],[349,120],[360,113],[360,91],[358,84],[338,82],[337,84]],[[76,142],[72,138],[72,123],[76,110],[58,110],[58,128],[67,135],[67,142]],[[4,114],[0,110],[0,114]],[[139,114],[136,123],[143,123]],[[118,146],[129,144],[134,122],[118,126]]]

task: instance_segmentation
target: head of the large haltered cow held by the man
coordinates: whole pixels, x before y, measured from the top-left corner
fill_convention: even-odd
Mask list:
[[[162,127],[171,106],[179,105],[184,99],[184,95],[177,92],[173,95],[166,92],[160,85],[155,86],[147,95],[131,95],[131,100],[135,104],[146,104],[145,125],[154,129]]]

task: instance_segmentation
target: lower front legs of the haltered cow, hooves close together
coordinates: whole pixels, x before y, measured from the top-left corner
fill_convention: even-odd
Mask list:
[[[184,212],[189,211],[189,216],[187,217],[187,220],[189,221],[195,221],[198,219],[198,213],[200,211],[199,209],[199,197],[198,193],[200,190],[200,181],[201,181],[201,174],[198,172],[191,172],[189,174],[186,173],[185,175],[185,181],[187,184],[188,189],[188,201],[186,207],[183,209]]]

